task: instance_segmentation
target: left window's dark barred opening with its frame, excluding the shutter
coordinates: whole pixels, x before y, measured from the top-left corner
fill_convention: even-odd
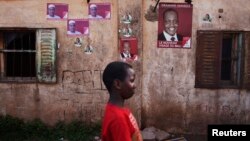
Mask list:
[[[1,81],[36,80],[36,31],[0,31]]]

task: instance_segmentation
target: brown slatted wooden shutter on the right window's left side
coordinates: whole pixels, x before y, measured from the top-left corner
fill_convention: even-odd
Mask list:
[[[197,32],[195,87],[219,87],[221,35],[219,31]]]

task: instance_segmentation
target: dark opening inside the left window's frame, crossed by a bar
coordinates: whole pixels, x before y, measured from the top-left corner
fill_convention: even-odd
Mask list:
[[[35,77],[35,32],[4,32],[7,77]]]

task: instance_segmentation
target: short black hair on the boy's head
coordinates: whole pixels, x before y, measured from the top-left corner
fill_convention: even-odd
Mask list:
[[[111,62],[109,63],[103,71],[102,80],[108,89],[111,92],[111,88],[113,86],[113,82],[115,79],[124,81],[127,76],[127,70],[132,68],[131,65],[125,62]]]

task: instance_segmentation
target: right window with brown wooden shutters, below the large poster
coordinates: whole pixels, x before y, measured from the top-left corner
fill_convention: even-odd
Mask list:
[[[236,31],[198,31],[197,88],[250,87],[250,34]]]

